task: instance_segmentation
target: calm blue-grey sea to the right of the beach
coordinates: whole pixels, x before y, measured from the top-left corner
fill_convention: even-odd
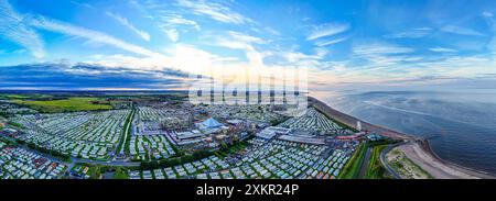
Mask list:
[[[341,91],[311,94],[344,113],[429,138],[448,161],[496,175],[496,91]]]

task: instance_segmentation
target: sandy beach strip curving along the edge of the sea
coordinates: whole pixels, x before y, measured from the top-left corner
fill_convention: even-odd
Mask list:
[[[488,172],[464,167],[454,163],[446,161],[440,158],[431,148],[428,139],[409,136],[405,133],[400,133],[387,127],[378,126],[364,122],[357,118],[339,112],[325,102],[310,97],[309,104],[316,108],[324,114],[346,124],[349,127],[356,129],[356,122],[360,121],[362,129],[370,132],[379,133],[384,136],[401,139],[408,142],[399,147],[405,154],[413,160],[417,165],[421,166],[425,171],[431,174],[434,178],[441,179],[494,179]]]

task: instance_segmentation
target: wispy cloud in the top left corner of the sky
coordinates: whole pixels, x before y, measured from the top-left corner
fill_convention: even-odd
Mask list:
[[[0,36],[28,49],[36,58],[43,58],[43,40],[24,23],[25,16],[17,13],[7,0],[0,0]]]

